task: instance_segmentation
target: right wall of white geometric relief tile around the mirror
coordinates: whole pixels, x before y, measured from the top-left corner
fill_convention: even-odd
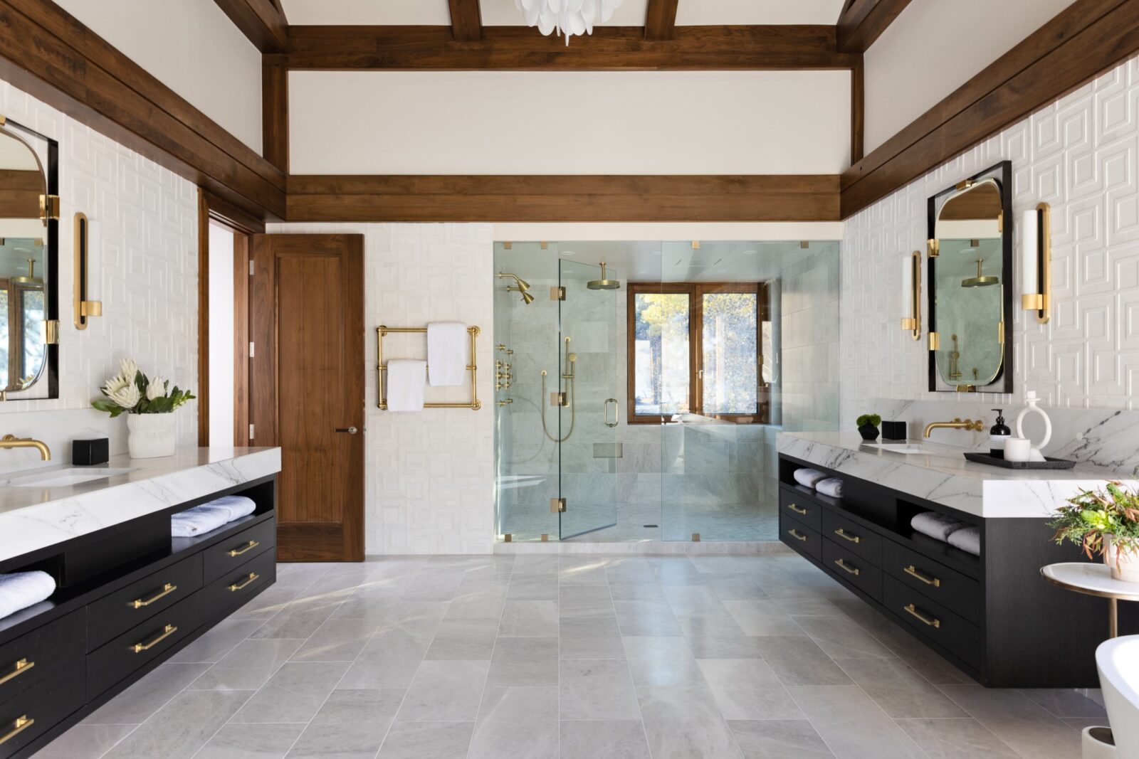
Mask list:
[[[1011,396],[929,393],[924,340],[898,325],[898,262],[925,249],[929,196],[1003,159],[1013,162],[1013,299],[1018,303],[1021,214],[1043,200],[1052,208],[1052,317],[1038,324],[1030,312],[1014,310]],[[1137,165],[1139,58],[1132,58],[847,220],[843,427],[871,410],[923,423],[978,415],[991,423],[991,409],[1015,415],[1032,389],[1057,423],[1051,452],[1129,475],[1139,464]]]

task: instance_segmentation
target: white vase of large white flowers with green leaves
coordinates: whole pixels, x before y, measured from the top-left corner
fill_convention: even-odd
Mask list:
[[[133,358],[123,358],[117,374],[99,390],[105,397],[91,405],[114,419],[126,416],[126,448],[131,459],[154,459],[174,454],[177,435],[173,411],[194,394],[161,377],[149,378],[139,370]]]

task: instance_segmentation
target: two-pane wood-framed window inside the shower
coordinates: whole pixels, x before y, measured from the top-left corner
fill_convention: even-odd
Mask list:
[[[628,421],[770,420],[764,282],[630,282]]]

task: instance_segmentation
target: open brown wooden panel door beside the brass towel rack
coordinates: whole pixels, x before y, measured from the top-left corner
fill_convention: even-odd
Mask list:
[[[277,555],[363,560],[363,236],[254,234],[249,445],[280,446]]]

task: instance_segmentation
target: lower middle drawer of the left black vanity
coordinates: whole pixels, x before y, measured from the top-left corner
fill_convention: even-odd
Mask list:
[[[132,627],[87,654],[88,700],[93,700],[136,669],[164,655],[202,626],[202,592]]]

